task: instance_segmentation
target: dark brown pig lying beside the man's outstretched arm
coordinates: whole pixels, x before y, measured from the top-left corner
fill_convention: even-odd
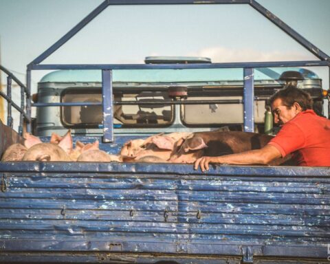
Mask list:
[[[271,135],[241,131],[197,132],[178,145],[177,151],[168,159],[172,163],[194,163],[202,156],[221,156],[251,151],[265,146],[272,140]],[[275,160],[272,165],[287,162],[289,157]]]

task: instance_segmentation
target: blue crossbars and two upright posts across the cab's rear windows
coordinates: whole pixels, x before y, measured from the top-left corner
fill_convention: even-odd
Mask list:
[[[254,100],[265,100],[265,98],[255,98],[254,96],[254,67],[247,67],[250,65],[255,66],[263,66],[270,65],[273,67],[285,67],[287,65],[301,65],[309,64],[309,66],[320,66],[320,65],[327,65],[327,61],[317,61],[314,63],[310,62],[274,62],[274,63],[214,63],[211,65],[201,65],[201,64],[190,64],[190,65],[177,65],[177,64],[166,64],[166,65],[151,65],[157,69],[205,69],[205,68],[223,68],[228,67],[230,65],[233,68],[238,68],[241,66],[243,67],[243,100],[199,100],[199,101],[168,101],[168,104],[209,104],[209,103],[243,103],[243,129],[246,132],[254,132]],[[44,66],[44,65],[39,65]],[[55,67],[63,67],[65,68],[69,65],[54,65]],[[82,69],[84,65],[80,65],[79,69]],[[96,69],[100,65],[89,65],[89,68]],[[103,65],[104,68],[102,69],[102,102],[56,102],[56,103],[35,103],[33,107],[73,107],[73,106],[100,106],[102,105],[103,109],[103,142],[112,142],[113,141],[113,105],[115,104],[157,104],[157,102],[113,102],[112,101],[112,94],[113,94],[113,84],[111,78],[111,69],[105,69],[107,67],[111,67],[112,65]],[[126,65],[127,66],[127,65]],[[131,65],[130,69],[142,69],[145,66],[150,65]],[[208,66],[208,67],[206,67]],[[70,69],[76,69],[72,65],[69,67]],[[115,67],[117,69],[117,67]],[[58,68],[57,68],[58,69]],[[66,68],[67,69],[67,68]],[[120,67],[118,68],[120,69]],[[127,67],[125,68],[127,69]],[[164,104],[165,102],[159,102],[159,104]],[[329,110],[330,111],[330,110]]]

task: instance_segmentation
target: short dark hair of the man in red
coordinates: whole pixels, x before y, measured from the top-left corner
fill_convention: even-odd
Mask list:
[[[276,99],[281,99],[285,107],[292,107],[295,102],[297,102],[303,111],[307,109],[313,109],[313,99],[311,96],[292,85],[287,85],[285,89],[278,91],[270,98],[270,104],[272,104]]]

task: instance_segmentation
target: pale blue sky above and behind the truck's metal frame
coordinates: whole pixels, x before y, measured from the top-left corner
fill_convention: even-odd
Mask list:
[[[257,0],[330,54],[329,0]],[[26,65],[102,0],[0,0],[1,64]],[[143,63],[145,56],[209,56],[213,62],[314,60],[249,5],[113,6],[44,63]],[[329,87],[326,67],[313,68]],[[17,74],[24,81],[25,76]],[[45,72],[32,72],[34,89]]]

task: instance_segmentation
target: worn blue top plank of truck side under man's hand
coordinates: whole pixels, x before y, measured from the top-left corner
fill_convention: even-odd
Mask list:
[[[185,164],[139,164],[139,163],[117,163],[117,162],[2,162],[0,172],[10,171],[11,173],[135,173],[133,177],[140,177],[141,174],[157,175],[157,177],[177,177],[186,175],[207,179],[210,175],[214,177],[234,175],[235,177],[294,177],[314,178],[329,177],[330,167],[291,167],[291,166],[217,166],[210,171],[201,173],[193,170],[192,165]],[[166,176],[168,175],[168,176]]]

